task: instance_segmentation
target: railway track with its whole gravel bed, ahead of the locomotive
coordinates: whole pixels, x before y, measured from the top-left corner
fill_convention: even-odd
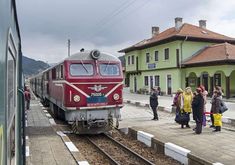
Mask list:
[[[56,125],[53,126],[54,130],[62,131],[67,134],[71,142],[73,142],[79,149],[82,157],[90,164],[180,164],[165,155],[156,153],[152,149],[144,146],[142,143],[136,142],[131,138],[124,137],[116,128],[113,128],[114,131],[111,131],[112,137],[106,134],[77,135],[72,133],[71,126],[64,121],[55,119],[55,122]],[[121,143],[113,138],[117,139]]]

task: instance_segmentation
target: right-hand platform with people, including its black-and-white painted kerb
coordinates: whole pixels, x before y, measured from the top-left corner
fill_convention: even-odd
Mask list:
[[[174,121],[174,114],[165,111],[158,113],[159,120],[153,121],[149,108],[126,104],[121,111],[120,128],[182,164],[234,165],[234,129],[222,127],[221,132],[212,132],[208,124],[202,134],[197,135],[192,130],[194,122],[190,122],[192,128],[181,129]]]

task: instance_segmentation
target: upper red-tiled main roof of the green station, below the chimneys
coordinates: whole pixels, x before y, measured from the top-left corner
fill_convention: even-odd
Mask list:
[[[175,27],[169,28],[153,36],[150,39],[145,39],[143,41],[140,41],[139,43],[130,46],[128,48],[122,49],[119,52],[126,52],[126,51],[128,52],[130,50],[145,48],[149,45],[157,44],[158,42],[171,39],[173,37],[179,37],[182,39],[188,37],[191,39],[199,39],[199,40],[220,40],[221,42],[222,41],[235,42],[235,38],[227,37],[225,35],[218,34],[195,25],[184,23],[179,30],[176,30]]]

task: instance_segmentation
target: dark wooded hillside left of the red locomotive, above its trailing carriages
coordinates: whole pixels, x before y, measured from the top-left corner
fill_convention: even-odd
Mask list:
[[[22,67],[24,75],[28,77],[45,70],[49,67],[49,65],[43,61],[36,61],[34,59],[23,56]]]

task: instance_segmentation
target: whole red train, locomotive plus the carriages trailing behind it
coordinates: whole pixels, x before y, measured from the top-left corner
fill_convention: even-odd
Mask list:
[[[79,134],[113,127],[123,106],[120,60],[98,50],[76,53],[31,78],[34,93]],[[118,124],[118,123],[117,123]]]

